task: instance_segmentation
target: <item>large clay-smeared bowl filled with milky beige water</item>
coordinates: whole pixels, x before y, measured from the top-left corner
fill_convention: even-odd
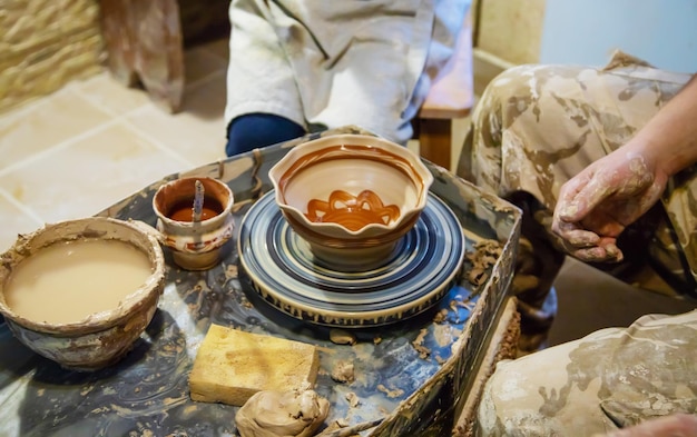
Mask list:
[[[163,251],[148,229],[91,217],[20,235],[0,258],[0,312],[14,337],[76,370],[122,358],[165,286]]]

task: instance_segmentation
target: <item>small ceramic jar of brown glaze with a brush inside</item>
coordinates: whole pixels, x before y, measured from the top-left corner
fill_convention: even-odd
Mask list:
[[[199,217],[194,208],[197,192],[203,199]],[[176,179],[157,190],[153,198],[156,227],[175,264],[186,270],[206,270],[220,261],[232,246],[233,203],[229,187],[207,177]]]

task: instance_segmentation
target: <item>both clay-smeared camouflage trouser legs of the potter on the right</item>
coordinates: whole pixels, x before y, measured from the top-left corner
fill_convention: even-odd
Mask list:
[[[560,187],[627,142],[689,80],[619,53],[602,70],[522,66],[495,78],[473,115],[459,175],[523,209],[513,292],[523,338],[538,347],[556,314],[552,282],[566,256],[551,232]],[[619,279],[645,259],[671,286],[696,291],[697,166],[628,227]],[[640,284],[649,287],[646,284]],[[550,291],[551,289],[551,291]],[[666,290],[661,290],[666,291]],[[485,436],[590,436],[671,413],[697,414],[697,310],[645,316],[498,365],[479,409]]]

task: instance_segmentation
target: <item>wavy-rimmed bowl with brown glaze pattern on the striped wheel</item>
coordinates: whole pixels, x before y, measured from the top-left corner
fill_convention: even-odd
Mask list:
[[[384,262],[423,211],[433,176],[397,143],[327,136],[292,149],[271,170],[275,201],[317,262],[342,271]]]

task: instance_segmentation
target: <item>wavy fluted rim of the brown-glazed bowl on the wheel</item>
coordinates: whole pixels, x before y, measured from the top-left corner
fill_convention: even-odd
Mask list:
[[[406,162],[411,165],[411,168],[415,175],[418,175],[422,180],[422,191],[419,195],[419,201],[412,208],[404,210],[400,217],[387,224],[369,224],[361,229],[350,230],[344,226],[335,222],[315,222],[311,221],[305,217],[303,211],[300,209],[287,205],[285,199],[283,198],[282,187],[279,185],[279,179],[288,171],[291,165],[307,153],[314,152],[316,150],[321,150],[326,146],[337,146],[338,143],[350,143],[351,146],[363,146],[365,148],[380,148],[386,150],[390,153],[396,155],[397,157],[404,159]],[[312,166],[312,163],[311,163]],[[269,170],[268,177],[272,181],[272,185],[275,190],[275,200],[276,205],[281,208],[281,210],[285,213],[292,213],[296,220],[300,220],[304,227],[313,229],[315,232],[331,232],[331,234],[340,234],[344,235],[347,238],[356,238],[364,234],[372,235],[376,231],[392,231],[394,229],[399,229],[402,224],[406,220],[410,220],[413,215],[419,213],[426,206],[428,195],[431,186],[433,185],[433,175],[422,161],[421,157],[416,153],[408,149],[405,146],[401,146],[396,142],[390,141],[382,137],[374,137],[369,135],[360,135],[360,133],[337,133],[320,137],[317,139],[303,142],[301,145],[294,146],[278,162],[276,162]]]

